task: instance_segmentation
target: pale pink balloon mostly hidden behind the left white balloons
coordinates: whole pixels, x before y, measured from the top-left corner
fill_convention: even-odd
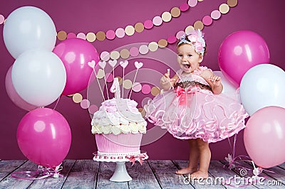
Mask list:
[[[6,87],[6,92],[8,96],[10,97],[11,101],[16,104],[17,107],[20,107],[21,109],[25,109],[27,111],[31,111],[32,109],[36,109],[36,106],[33,104],[29,104],[28,102],[24,101],[19,94],[16,92],[14,85],[12,83],[12,77],[11,77],[11,71],[12,71],[11,66],[6,73],[6,79],[5,79],[5,87]]]

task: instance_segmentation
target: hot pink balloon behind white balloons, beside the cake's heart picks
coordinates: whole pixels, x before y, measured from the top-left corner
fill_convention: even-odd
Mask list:
[[[66,87],[63,95],[72,95],[86,89],[93,68],[88,62],[95,60],[98,64],[99,55],[95,47],[81,38],[69,38],[53,49],[63,61],[66,68]]]

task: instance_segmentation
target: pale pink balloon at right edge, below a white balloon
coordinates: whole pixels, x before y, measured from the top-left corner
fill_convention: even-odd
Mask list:
[[[271,168],[285,162],[285,109],[264,107],[252,114],[244,129],[244,146],[254,163]]]

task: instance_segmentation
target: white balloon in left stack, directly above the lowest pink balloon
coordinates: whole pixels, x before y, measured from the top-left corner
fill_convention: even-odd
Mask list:
[[[66,69],[58,56],[46,50],[28,50],[14,62],[12,83],[29,104],[43,107],[54,102],[66,85]]]

